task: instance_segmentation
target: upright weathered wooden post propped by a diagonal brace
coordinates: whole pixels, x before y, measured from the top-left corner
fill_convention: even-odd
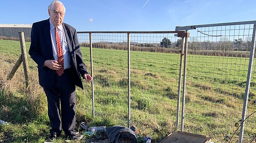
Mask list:
[[[28,88],[29,87],[29,76],[28,76],[29,65],[28,65],[27,56],[26,56],[24,32],[19,31],[19,36],[20,36],[21,56],[22,56],[24,75],[25,75],[25,83],[26,83],[26,88]]]

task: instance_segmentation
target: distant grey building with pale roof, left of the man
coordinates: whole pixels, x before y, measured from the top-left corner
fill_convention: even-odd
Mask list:
[[[32,24],[0,24],[0,37],[19,38],[19,31],[24,32],[25,39],[30,39]]]

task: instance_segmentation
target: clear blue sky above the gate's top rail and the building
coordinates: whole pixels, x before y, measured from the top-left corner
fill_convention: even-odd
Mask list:
[[[1,0],[0,24],[32,24],[47,19],[47,6],[51,2],[52,0]],[[176,26],[256,20],[256,0],[61,2],[66,7],[64,22],[77,31],[174,31]]]

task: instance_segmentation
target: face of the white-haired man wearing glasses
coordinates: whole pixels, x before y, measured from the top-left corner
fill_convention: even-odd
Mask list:
[[[50,20],[55,27],[62,24],[65,13],[64,7],[60,3],[55,3],[52,9],[48,9]]]

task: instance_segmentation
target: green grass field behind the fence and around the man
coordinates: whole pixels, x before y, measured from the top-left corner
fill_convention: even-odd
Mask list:
[[[29,45],[26,42],[27,51]],[[81,47],[81,51],[90,71],[90,49]],[[47,101],[29,55],[29,88],[25,88],[22,67],[6,81],[19,55],[19,41],[0,40],[0,119],[9,122],[0,126],[0,140],[39,143],[49,134]],[[125,50],[93,48],[95,118],[91,115],[91,84],[84,82],[84,90],[77,89],[77,122],[127,126],[127,61]],[[249,58],[189,55],[188,61],[184,131],[213,137],[215,142],[237,142],[235,123],[241,119]],[[140,136],[151,134],[153,142],[177,131],[179,66],[177,53],[131,51],[131,125]],[[255,67],[252,73],[247,116],[256,111]],[[256,114],[252,114],[244,130],[249,142],[256,135],[255,126]]]

